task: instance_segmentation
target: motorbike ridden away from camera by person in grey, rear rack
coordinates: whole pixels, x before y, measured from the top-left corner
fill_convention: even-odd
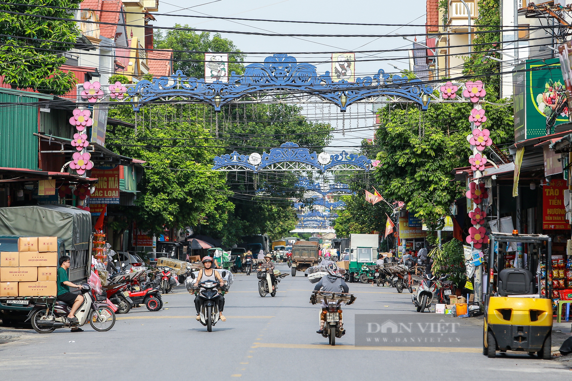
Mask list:
[[[324,300],[324,303],[328,306],[325,311],[322,336],[328,338],[331,346],[335,346],[336,338],[339,339],[345,335],[345,329],[341,321],[341,303],[350,305],[356,300],[356,297],[351,293],[313,291],[310,303],[316,304],[321,300]]]

